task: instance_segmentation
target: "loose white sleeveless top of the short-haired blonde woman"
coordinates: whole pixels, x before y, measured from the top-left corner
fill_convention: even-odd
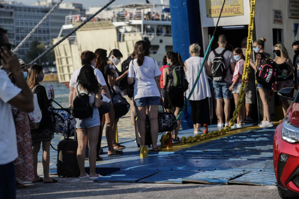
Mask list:
[[[189,83],[189,87],[186,92],[187,96],[190,94],[190,91],[195,83],[202,61],[203,61],[202,57],[190,57],[189,59],[186,60],[186,65],[187,65],[186,79]],[[211,97],[211,91],[208,82],[208,76],[205,71],[205,66],[203,66],[201,75],[199,76],[198,82],[194,88],[190,100],[203,100],[205,98],[210,98],[210,97]]]

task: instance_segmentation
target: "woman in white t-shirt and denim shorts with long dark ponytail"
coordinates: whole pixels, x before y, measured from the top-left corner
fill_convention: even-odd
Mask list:
[[[152,150],[160,151],[157,147],[158,139],[158,105],[161,100],[160,70],[157,62],[149,57],[149,45],[141,40],[135,44],[137,59],[129,65],[128,83],[134,85],[134,105],[137,107],[138,131],[141,145],[145,146],[146,108],[149,108],[150,133]]]

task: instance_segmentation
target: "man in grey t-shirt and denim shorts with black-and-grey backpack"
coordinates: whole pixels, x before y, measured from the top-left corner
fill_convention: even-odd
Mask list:
[[[232,84],[233,71],[235,70],[233,53],[225,49],[226,44],[225,35],[220,35],[218,37],[219,47],[213,50],[208,58],[208,65],[212,71],[212,80],[217,101],[216,114],[219,118],[218,127],[223,127],[223,111],[225,115],[225,126],[229,125],[230,100],[232,99],[232,92],[229,91],[229,87]]]

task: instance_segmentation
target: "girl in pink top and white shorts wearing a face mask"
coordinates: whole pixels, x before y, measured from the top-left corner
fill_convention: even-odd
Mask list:
[[[235,105],[237,107],[241,85],[242,85],[242,75],[244,72],[245,57],[243,55],[243,51],[241,48],[235,48],[233,50],[233,55],[237,64],[233,74],[233,79],[232,79],[233,84],[229,87],[229,90],[232,91],[235,100]],[[246,95],[246,92],[244,95]],[[245,107],[245,96],[244,96],[242,101],[242,107],[240,108],[239,115],[237,117],[237,124],[232,127],[240,128],[245,126],[245,111],[246,111],[246,107]]]

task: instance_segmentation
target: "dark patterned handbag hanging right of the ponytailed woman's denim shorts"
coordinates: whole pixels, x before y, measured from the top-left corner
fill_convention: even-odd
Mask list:
[[[165,112],[163,106],[163,112],[158,112],[158,125],[159,132],[168,132],[177,128],[177,121],[174,113]]]

